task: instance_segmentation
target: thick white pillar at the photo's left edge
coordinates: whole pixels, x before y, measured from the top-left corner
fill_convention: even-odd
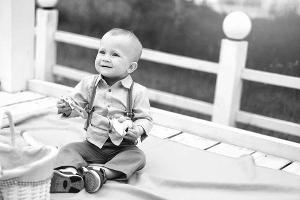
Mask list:
[[[0,29],[0,90],[25,90],[34,77],[34,0],[0,0]]]

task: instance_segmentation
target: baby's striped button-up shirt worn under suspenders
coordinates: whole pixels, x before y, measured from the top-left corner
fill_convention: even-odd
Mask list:
[[[123,138],[116,133],[112,127],[114,114],[123,116],[126,114],[127,91],[130,88],[132,79],[128,74],[123,79],[109,86],[101,75],[90,75],[84,77],[75,87],[69,96],[77,105],[86,108],[90,102],[91,91],[96,78],[99,77],[99,84],[96,89],[93,112],[91,114],[90,125],[86,131],[86,139],[99,148],[105,141],[110,140],[115,145],[119,145]],[[132,89],[132,121],[140,125],[146,135],[152,128],[152,117],[150,115],[150,103],[146,92],[146,87],[134,82]],[[58,114],[60,114],[58,112]],[[72,110],[69,116],[62,114],[61,119],[79,116]]]

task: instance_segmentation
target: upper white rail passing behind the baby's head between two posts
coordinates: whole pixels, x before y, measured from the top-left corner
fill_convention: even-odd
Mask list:
[[[56,41],[75,44],[87,48],[98,49],[100,46],[100,39],[65,31],[56,31],[54,34]],[[217,73],[218,63],[186,57],[182,55],[175,55],[171,53],[161,52],[148,48],[142,49],[140,59],[158,62],[162,64],[168,64],[186,69],[192,69],[197,71],[205,71],[208,73]]]

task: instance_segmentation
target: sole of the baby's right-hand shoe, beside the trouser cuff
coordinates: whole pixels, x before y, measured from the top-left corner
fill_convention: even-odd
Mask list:
[[[84,188],[87,192],[93,193],[100,188],[101,179],[97,172],[93,170],[83,170],[82,172]]]

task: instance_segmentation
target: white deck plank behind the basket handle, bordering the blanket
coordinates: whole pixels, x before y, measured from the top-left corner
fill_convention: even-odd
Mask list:
[[[0,107],[1,110],[9,110],[13,116],[14,123],[20,121],[24,116],[44,110],[45,108],[55,107],[56,98],[45,97],[37,100],[17,103],[9,106]],[[2,121],[2,127],[7,126],[8,119],[5,116]]]

